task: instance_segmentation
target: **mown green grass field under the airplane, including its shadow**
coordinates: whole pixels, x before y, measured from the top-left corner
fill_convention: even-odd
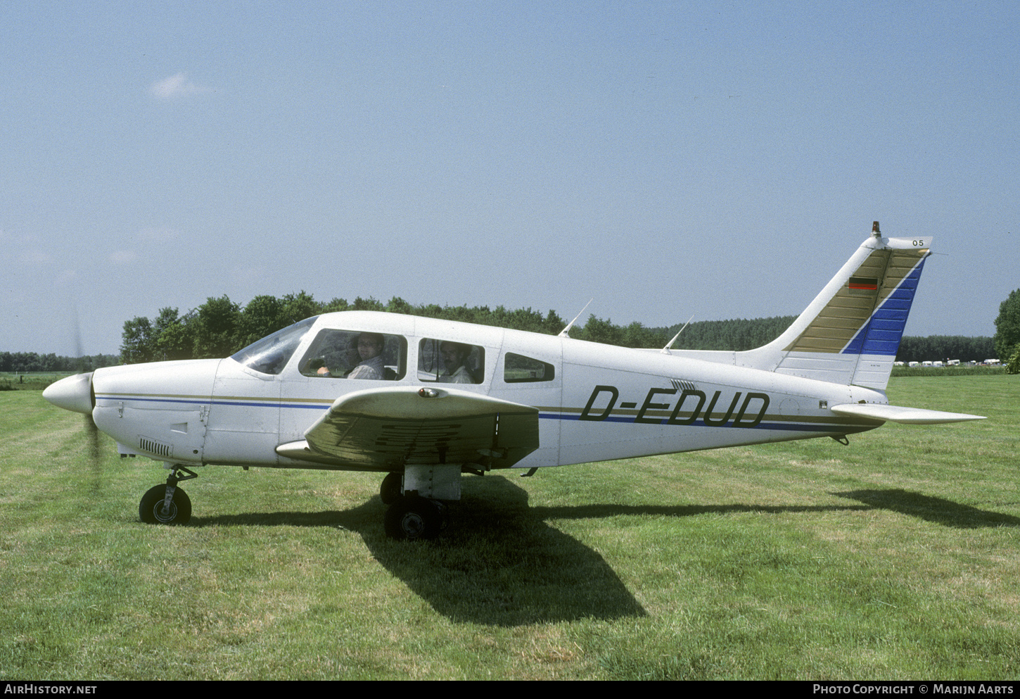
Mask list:
[[[1020,677],[1020,377],[894,379],[951,426],[466,479],[435,542],[373,475],[165,472],[0,393],[0,679]]]

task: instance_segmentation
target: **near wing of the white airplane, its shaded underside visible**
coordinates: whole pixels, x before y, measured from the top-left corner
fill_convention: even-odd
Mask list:
[[[276,453],[364,470],[475,463],[507,468],[539,448],[539,409],[468,391],[368,389],[338,398]]]

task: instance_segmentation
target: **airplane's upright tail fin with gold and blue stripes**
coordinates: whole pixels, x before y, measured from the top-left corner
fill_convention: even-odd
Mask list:
[[[930,238],[866,240],[785,333],[736,363],[882,390],[888,383]]]

